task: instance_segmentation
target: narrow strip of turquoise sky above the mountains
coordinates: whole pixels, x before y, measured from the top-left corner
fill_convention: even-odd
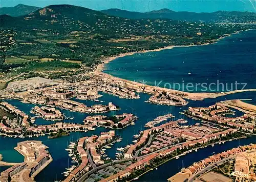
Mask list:
[[[256,0],[0,0],[0,7],[10,7],[18,4],[37,7],[70,4],[94,10],[118,8],[139,12],[162,8],[190,12],[214,12],[219,10],[256,12]]]

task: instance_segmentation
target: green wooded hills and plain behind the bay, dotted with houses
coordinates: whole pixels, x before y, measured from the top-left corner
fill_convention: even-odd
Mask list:
[[[169,10],[161,10],[166,12]],[[240,17],[245,16],[232,19],[243,22]],[[73,5],[50,5],[18,17],[0,15],[0,27],[3,55],[70,58],[87,65],[99,63],[102,56],[174,45],[211,44],[226,34],[255,28],[251,24],[169,18],[130,19]]]

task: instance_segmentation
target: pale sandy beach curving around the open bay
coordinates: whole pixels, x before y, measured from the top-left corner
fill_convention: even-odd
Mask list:
[[[159,48],[159,49],[154,49],[154,50],[128,52],[128,53],[122,53],[122,54],[112,56],[112,57],[107,57],[107,58],[104,58],[102,60],[101,64],[97,65],[97,67],[95,68],[93,73],[95,75],[98,75],[98,76],[101,76],[101,77],[106,77],[106,78],[110,78],[110,79],[114,79],[114,80],[120,80],[121,82],[129,83],[129,84],[133,84],[133,85],[144,86],[144,87],[156,89],[156,90],[159,90],[159,91],[172,92],[172,93],[181,94],[181,95],[184,94],[185,96],[181,96],[181,98],[190,99],[190,100],[204,100],[205,98],[216,98],[216,97],[229,95],[229,94],[234,94],[234,93],[240,93],[240,92],[249,92],[249,91],[254,92],[254,91],[256,91],[256,89],[233,90],[233,91],[227,91],[227,92],[186,92],[186,91],[180,91],[180,90],[167,89],[167,88],[158,87],[158,86],[146,85],[146,84],[143,84],[143,83],[139,83],[139,82],[135,82],[135,81],[132,81],[132,80],[129,80],[129,79],[116,77],[116,76],[113,76],[109,73],[103,72],[106,64],[108,64],[108,63],[112,62],[113,60],[115,60],[117,58],[120,58],[120,57],[134,55],[134,54],[137,54],[137,53],[159,52],[159,51],[162,51],[162,50],[173,49],[173,48],[177,48],[177,47],[206,46],[206,45],[210,45],[210,44],[217,44],[221,39],[224,39],[226,37],[230,37],[234,34],[239,34],[240,32],[247,32],[247,31],[251,31],[251,30],[255,30],[255,29],[239,30],[239,31],[236,31],[234,33],[224,34],[223,36],[221,36],[218,39],[213,39],[212,43],[206,43],[206,44],[201,44],[201,45],[166,46],[164,48]]]

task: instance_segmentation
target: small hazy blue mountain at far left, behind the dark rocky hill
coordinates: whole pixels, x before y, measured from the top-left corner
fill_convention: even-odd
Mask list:
[[[39,7],[34,7],[34,6],[27,6],[23,4],[19,4],[14,7],[3,7],[0,8],[0,15],[2,14],[7,14],[10,16],[22,16],[26,15],[29,13],[32,13],[36,10],[40,9]]]

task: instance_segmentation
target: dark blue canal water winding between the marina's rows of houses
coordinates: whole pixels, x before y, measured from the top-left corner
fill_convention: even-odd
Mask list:
[[[243,41],[245,42],[245,41]],[[218,44],[217,44],[218,45]],[[183,49],[183,48],[181,48]],[[194,49],[194,48],[193,48]],[[204,48],[203,48],[204,49]],[[189,49],[191,50],[191,49]],[[112,63],[111,63],[112,64]],[[114,64],[114,62],[113,62]],[[191,71],[191,73],[196,73],[196,71]],[[186,72],[187,74],[187,72]],[[191,74],[190,76],[192,76]],[[253,83],[252,83],[253,84]],[[145,128],[143,126],[146,125],[146,121],[149,118],[155,118],[155,116],[158,114],[159,111],[165,112],[165,114],[172,113],[174,116],[176,116],[177,119],[180,117],[180,108],[175,107],[175,106],[165,106],[165,105],[153,105],[149,103],[145,103],[145,100],[150,98],[150,95],[140,93],[140,98],[138,99],[119,99],[119,97],[109,95],[102,93],[102,97],[99,99],[103,100],[104,103],[109,103],[113,102],[116,105],[118,105],[121,110],[119,111],[111,111],[110,113],[106,113],[106,115],[113,115],[114,112],[117,112],[118,114],[121,113],[133,113],[138,116],[138,120],[136,121],[135,125],[131,125],[129,127],[124,128],[123,130],[116,130],[117,134],[121,136],[121,138],[117,139],[117,143],[110,144],[110,148],[105,147],[106,150],[103,155],[106,157],[106,159],[114,159],[116,156],[119,158],[122,156],[122,152],[116,152],[116,149],[122,150],[122,148],[129,148],[133,145],[133,141],[137,140],[139,136],[142,134],[142,130]],[[252,98],[252,100],[248,100],[249,103],[255,104],[256,96],[255,93],[253,92],[244,92],[244,93],[236,93],[232,95],[225,95],[222,97],[218,98],[212,98],[212,99],[205,99],[203,101],[194,101],[194,100],[189,100],[189,104],[187,106],[183,106],[183,110],[187,110],[188,107],[208,107],[210,105],[214,105],[219,101],[226,100],[226,99],[237,99],[237,98]],[[88,102],[88,100],[83,100],[84,102]],[[34,105],[30,104],[24,104],[19,102],[18,100],[8,100],[9,103],[12,105],[16,106],[18,109],[24,111],[24,113],[30,115],[30,110]],[[131,109],[133,108],[133,109]],[[135,110],[134,110],[135,109]],[[70,112],[67,110],[61,110],[61,112],[65,112],[66,114],[65,119],[67,117],[74,117],[73,119],[74,122],[77,122],[79,124],[83,124],[84,118],[88,116],[87,113],[80,113],[80,112]],[[183,117],[183,116],[182,116]],[[63,122],[67,122],[70,119],[63,120]],[[184,126],[186,125],[193,125],[196,123],[201,123],[201,120],[195,120],[193,118],[184,116],[184,119],[187,120],[186,123],[184,123]],[[182,121],[182,120],[181,120]],[[44,122],[40,118],[35,118],[35,124],[39,124],[40,122]],[[49,121],[47,121],[49,122]],[[46,168],[44,171],[39,173],[36,177],[36,181],[54,181],[54,180],[62,180],[64,176],[61,174],[68,174],[67,169],[72,168],[72,161],[74,160],[74,156],[69,157],[68,155],[70,154],[70,151],[72,151],[72,147],[74,147],[74,144],[69,144],[67,147],[67,141],[70,142],[74,138],[74,140],[77,140],[83,136],[92,136],[93,134],[99,134],[100,132],[106,132],[109,131],[108,128],[96,128],[94,130],[88,130],[88,132],[71,132],[70,136],[63,136],[61,138],[54,138],[52,140],[47,139],[47,136],[44,136],[44,134],[33,134],[33,135],[28,135],[29,139],[35,139],[35,140],[42,140],[44,143],[49,147],[49,152],[51,153],[53,157],[53,161],[51,164],[49,164],[48,168]],[[139,133],[136,135],[135,133]],[[4,159],[7,161],[22,161],[22,156],[20,154],[16,153],[15,151],[11,151],[11,149],[16,146],[16,143],[18,141],[26,140],[28,137],[24,138],[24,136],[16,135],[13,136],[12,138],[9,137],[4,137],[5,135],[3,134],[0,137],[0,142],[3,148],[0,148],[0,153],[3,154]],[[254,136],[251,136],[249,138],[243,138],[240,140],[228,140],[228,141],[222,141],[221,144],[218,141],[218,144],[215,144],[214,146],[210,147],[205,147],[202,149],[195,149],[194,151],[187,152],[185,155],[179,156],[178,159],[175,160],[170,160],[166,162],[165,164],[157,167],[158,170],[152,170],[149,171],[148,173],[140,176],[137,180],[152,180],[152,181],[158,181],[158,180],[163,180],[165,181],[168,177],[170,177],[172,174],[177,173],[180,171],[181,167],[184,165],[182,164],[182,160],[186,161],[185,162],[185,167],[190,166],[193,164],[196,160],[201,160],[203,158],[206,158],[207,156],[211,155],[212,152],[220,152],[224,151],[227,149],[231,149],[233,147],[239,146],[239,145],[245,145],[245,144],[250,144],[254,143]],[[67,149],[67,150],[65,150]],[[69,150],[70,149],[70,150]],[[74,163],[74,165],[76,165]],[[177,169],[173,168],[173,166],[177,166]],[[0,168],[2,171],[3,168]],[[52,171],[55,171],[54,174],[52,174]],[[172,169],[172,170],[169,170]],[[63,171],[66,171],[65,173]],[[47,174],[47,175],[46,175]]]

